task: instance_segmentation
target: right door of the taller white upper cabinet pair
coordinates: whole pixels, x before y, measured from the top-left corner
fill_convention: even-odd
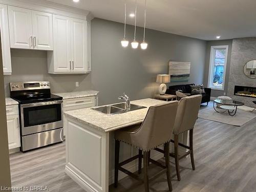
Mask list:
[[[71,21],[71,50],[73,72],[86,72],[87,69],[87,23],[86,20]]]

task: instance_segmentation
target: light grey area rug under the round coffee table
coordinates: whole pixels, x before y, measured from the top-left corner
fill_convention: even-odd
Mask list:
[[[226,123],[230,125],[242,126],[243,124],[256,118],[256,111],[247,112],[247,111],[238,109],[236,115],[230,116],[228,112],[225,112],[225,113],[216,112],[213,107],[213,102],[211,101],[209,102],[208,106],[201,105],[198,117],[202,119],[217,121],[217,122]]]

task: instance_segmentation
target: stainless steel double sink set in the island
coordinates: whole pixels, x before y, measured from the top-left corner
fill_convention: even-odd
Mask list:
[[[129,111],[135,111],[146,108],[145,106],[140,106],[136,104],[131,104],[130,110],[125,109],[125,102],[123,103],[117,103],[117,104],[111,104],[111,105],[105,105],[105,106],[98,106],[96,108],[92,108],[93,110],[99,111],[104,114],[108,115],[115,115],[115,114],[121,114],[126,113]]]

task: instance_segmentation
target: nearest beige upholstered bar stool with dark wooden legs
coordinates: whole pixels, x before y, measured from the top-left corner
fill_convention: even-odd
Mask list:
[[[146,117],[141,126],[134,125],[123,130],[115,131],[115,187],[117,187],[118,184],[118,170],[131,177],[134,177],[135,179],[138,179],[137,175],[124,169],[122,166],[139,158],[138,172],[141,173],[141,161],[143,158],[144,188],[146,192],[150,191],[147,174],[148,160],[150,159],[148,154],[157,146],[164,144],[164,152],[167,158],[165,158],[165,166],[160,166],[166,168],[168,188],[169,191],[172,191],[168,154],[169,141],[174,130],[177,107],[178,101],[170,101],[167,104],[151,106],[148,109]],[[119,163],[120,141],[138,148],[139,154]]]

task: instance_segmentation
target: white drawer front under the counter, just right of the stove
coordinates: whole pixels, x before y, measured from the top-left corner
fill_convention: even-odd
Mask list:
[[[81,97],[63,100],[64,111],[91,108],[92,106],[95,106],[95,97]]]

